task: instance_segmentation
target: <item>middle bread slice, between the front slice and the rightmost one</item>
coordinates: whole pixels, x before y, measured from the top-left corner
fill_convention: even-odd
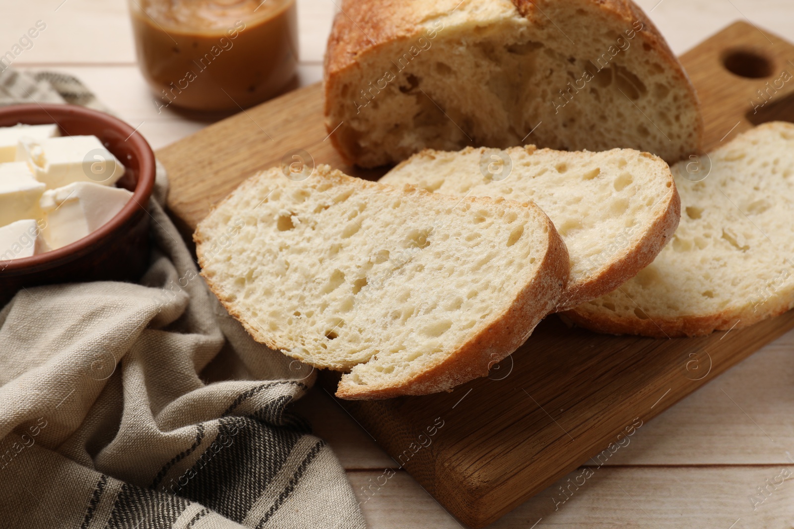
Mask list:
[[[534,201],[571,259],[557,310],[572,309],[633,278],[676,231],[680,201],[662,159],[646,152],[465,148],[422,151],[380,182],[474,197]]]

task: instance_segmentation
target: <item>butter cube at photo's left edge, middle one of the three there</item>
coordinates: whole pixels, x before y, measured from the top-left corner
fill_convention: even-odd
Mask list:
[[[40,219],[43,183],[33,178],[25,162],[0,163],[0,226],[16,220]]]

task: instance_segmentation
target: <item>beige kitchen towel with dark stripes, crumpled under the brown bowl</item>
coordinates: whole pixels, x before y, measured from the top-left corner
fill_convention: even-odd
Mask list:
[[[48,82],[9,71],[6,103]],[[285,409],[312,368],[250,339],[149,212],[140,284],[23,289],[0,310],[0,527],[364,527],[333,452]]]

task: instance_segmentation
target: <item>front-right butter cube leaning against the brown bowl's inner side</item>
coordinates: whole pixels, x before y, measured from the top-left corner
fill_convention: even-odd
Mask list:
[[[47,222],[44,238],[52,248],[83,239],[115,217],[132,196],[128,190],[93,182],[44,191],[40,201]]]

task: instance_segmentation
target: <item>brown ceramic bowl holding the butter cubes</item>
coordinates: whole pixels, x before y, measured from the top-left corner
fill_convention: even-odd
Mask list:
[[[124,164],[117,186],[133,191],[132,199],[87,237],[40,255],[0,261],[0,307],[18,290],[48,283],[136,281],[148,266],[150,215],[155,161],[144,137],[109,114],[77,105],[10,105],[0,107],[0,127],[56,123],[63,136],[97,136]]]

